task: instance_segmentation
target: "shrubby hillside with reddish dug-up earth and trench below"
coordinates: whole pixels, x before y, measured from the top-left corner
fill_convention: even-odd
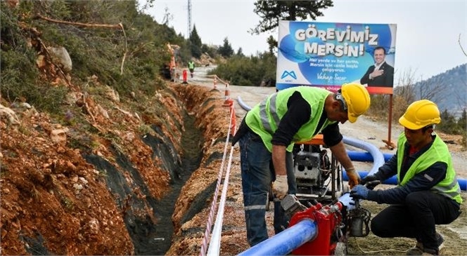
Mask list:
[[[164,254],[227,132],[218,95],[160,76],[184,41],[136,1],[0,5],[1,255]]]

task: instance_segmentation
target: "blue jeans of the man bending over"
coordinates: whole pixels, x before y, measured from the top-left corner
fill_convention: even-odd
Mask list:
[[[264,146],[261,138],[248,131],[238,141],[240,145],[241,174],[243,189],[243,206],[247,239],[250,246],[261,243],[268,238],[266,227],[266,203],[269,203],[268,192],[271,182],[275,180],[274,170],[269,168],[271,152]],[[293,169],[293,154],[286,153],[288,177],[288,194],[295,194],[297,184]],[[281,202],[274,200],[274,231],[279,233],[288,226]]]

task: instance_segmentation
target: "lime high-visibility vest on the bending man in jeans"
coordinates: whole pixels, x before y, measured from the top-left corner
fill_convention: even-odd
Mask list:
[[[253,107],[245,118],[248,127],[257,133],[257,135],[260,135],[264,146],[269,151],[272,151],[272,135],[276,132],[282,117],[287,112],[288,99],[296,91],[300,92],[302,97],[312,107],[312,113],[309,116],[309,121],[293,136],[292,142],[287,147],[287,151],[292,151],[295,142],[310,140],[314,135],[326,128],[326,126],[335,123],[335,121],[326,119],[323,126],[317,129],[321,114],[324,112],[324,102],[326,101],[326,97],[331,94],[330,91],[311,86],[298,86],[280,90],[278,93],[269,95],[260,104]]]

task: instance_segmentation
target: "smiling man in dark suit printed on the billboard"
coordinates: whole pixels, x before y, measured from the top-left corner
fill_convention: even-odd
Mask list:
[[[392,87],[394,84],[394,67],[385,61],[386,49],[378,46],[373,51],[374,65],[371,65],[360,79],[360,83],[375,87]]]

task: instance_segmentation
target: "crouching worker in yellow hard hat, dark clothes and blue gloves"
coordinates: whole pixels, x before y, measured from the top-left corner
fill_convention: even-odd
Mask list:
[[[397,152],[362,185],[350,192],[390,206],[371,220],[371,231],[380,237],[416,238],[407,255],[438,255],[443,243],[436,224],[449,224],[460,215],[461,189],[452,167],[451,154],[439,135],[440,111],[430,100],[418,100],[399,119],[404,133],[399,135]],[[363,184],[397,175],[397,187],[371,190]]]

